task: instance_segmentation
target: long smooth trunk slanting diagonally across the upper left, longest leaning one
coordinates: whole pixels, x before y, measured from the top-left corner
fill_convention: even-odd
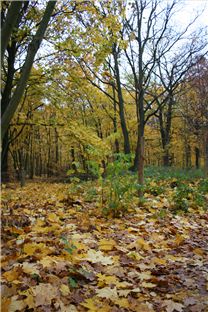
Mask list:
[[[4,137],[8,127],[9,123],[18,107],[18,104],[22,98],[22,95],[24,93],[30,71],[32,69],[32,65],[34,62],[35,55],[39,49],[39,46],[43,40],[43,36],[45,34],[46,28],[48,26],[50,17],[52,15],[52,12],[54,10],[56,1],[49,1],[46,7],[46,10],[44,12],[44,16],[40,22],[39,28],[32,40],[32,42],[29,44],[28,52],[26,56],[26,60],[24,63],[24,66],[21,71],[20,79],[18,81],[17,87],[14,91],[14,94],[11,98],[11,100],[8,103],[8,106],[6,108],[5,113],[2,116],[2,130],[1,135],[2,138]]]

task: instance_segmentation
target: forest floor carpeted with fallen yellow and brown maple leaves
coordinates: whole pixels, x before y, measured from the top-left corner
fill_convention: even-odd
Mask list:
[[[69,189],[3,186],[2,312],[208,311],[205,209],[172,213],[169,188],[107,218]]]

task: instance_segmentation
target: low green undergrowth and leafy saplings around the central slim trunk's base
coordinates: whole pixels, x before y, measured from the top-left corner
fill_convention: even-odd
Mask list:
[[[143,206],[146,199],[167,197],[169,207],[158,207],[158,215],[165,215],[169,209],[173,214],[188,213],[190,209],[206,209],[208,179],[203,179],[201,170],[183,170],[177,168],[147,167],[145,183],[137,182],[136,173],[129,171],[131,157],[117,154],[115,160],[108,164],[105,175],[96,165],[93,173],[98,176],[96,181],[81,182],[74,179],[70,192],[82,193],[84,200],[95,202],[104,216],[121,217],[129,210]],[[139,200],[138,190],[142,189],[145,197]]]

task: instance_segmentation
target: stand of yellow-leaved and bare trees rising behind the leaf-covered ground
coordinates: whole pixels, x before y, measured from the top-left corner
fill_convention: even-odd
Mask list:
[[[208,172],[207,30],[177,27],[180,5],[3,1],[2,178],[94,173],[117,153],[140,184],[145,164]]]

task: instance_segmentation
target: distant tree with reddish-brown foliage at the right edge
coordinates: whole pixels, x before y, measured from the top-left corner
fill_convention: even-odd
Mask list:
[[[186,92],[181,96],[181,114],[190,136],[195,136],[195,165],[199,167],[200,154],[204,155],[204,169],[208,175],[208,60],[198,56],[186,74]],[[202,142],[203,150],[199,149]]]

